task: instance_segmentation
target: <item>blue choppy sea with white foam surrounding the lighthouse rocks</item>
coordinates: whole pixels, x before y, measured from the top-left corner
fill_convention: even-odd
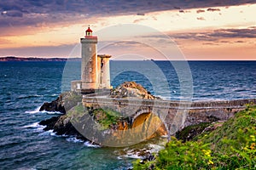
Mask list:
[[[80,62],[0,62],[0,169],[128,169],[140,150],[157,151],[159,140],[123,148],[100,147],[44,131],[38,122],[58,112],[39,111],[70,81]],[[135,81],[172,100],[256,98],[256,61],[110,61],[113,88]]]

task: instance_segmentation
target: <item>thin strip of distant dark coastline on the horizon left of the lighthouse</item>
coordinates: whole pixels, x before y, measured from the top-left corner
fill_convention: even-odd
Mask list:
[[[68,60],[79,61],[80,59],[72,58]],[[14,56],[0,58],[0,62],[5,62],[5,61],[67,61],[67,58],[35,58],[35,57],[23,58],[23,57],[14,57]]]

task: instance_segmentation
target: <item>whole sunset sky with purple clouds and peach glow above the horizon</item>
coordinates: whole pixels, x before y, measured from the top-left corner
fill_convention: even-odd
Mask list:
[[[256,0],[1,1],[0,57],[79,57],[90,25],[113,59],[256,60],[255,16]]]

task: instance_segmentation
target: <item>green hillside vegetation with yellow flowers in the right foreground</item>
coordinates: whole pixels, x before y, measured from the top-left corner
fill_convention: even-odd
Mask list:
[[[154,161],[137,160],[134,169],[256,169],[256,106],[194,141],[173,137]]]

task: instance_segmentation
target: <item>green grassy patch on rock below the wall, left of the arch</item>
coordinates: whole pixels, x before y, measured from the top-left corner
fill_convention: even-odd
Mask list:
[[[109,109],[96,109],[92,111],[92,115],[96,122],[100,123],[102,130],[108,129],[110,125],[117,123],[120,117],[120,113]]]

